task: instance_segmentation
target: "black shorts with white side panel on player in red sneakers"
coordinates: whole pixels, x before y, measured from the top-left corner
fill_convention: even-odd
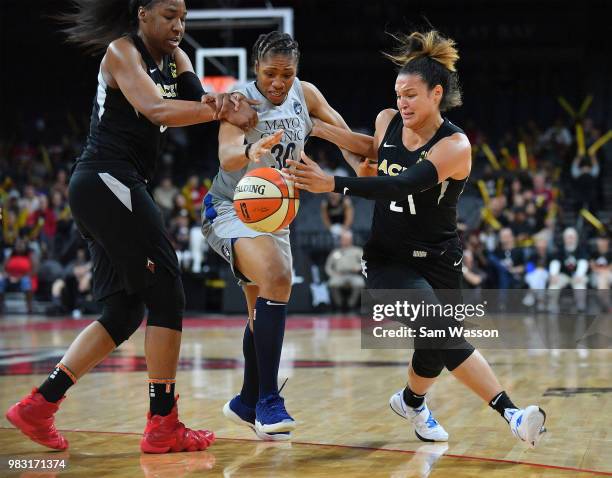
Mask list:
[[[96,300],[150,287],[160,267],[174,276],[180,273],[161,212],[134,171],[79,163],[68,200],[91,254]]]

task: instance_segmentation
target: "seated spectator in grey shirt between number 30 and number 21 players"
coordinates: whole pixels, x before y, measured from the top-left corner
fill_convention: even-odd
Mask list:
[[[337,309],[354,309],[359,302],[359,294],[365,287],[361,274],[361,256],[363,249],[353,245],[353,234],[345,230],[340,236],[340,247],[334,249],[325,263],[325,272],[329,277],[327,285],[331,291],[332,301]],[[343,292],[348,293],[346,307]]]

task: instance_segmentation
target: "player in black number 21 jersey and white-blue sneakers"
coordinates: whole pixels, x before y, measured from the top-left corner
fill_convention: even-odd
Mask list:
[[[330,176],[302,156],[284,172],[298,188],[335,191],[376,200],[372,233],[364,248],[369,289],[459,289],[462,249],[456,208],[471,167],[470,143],[441,112],[461,104],[454,42],[436,31],[398,37],[395,83],[398,110],[376,119],[374,138],[315,122],[313,134],[377,163],[364,162],[362,176]],[[449,320],[448,322],[453,322]],[[451,324],[440,321],[438,326]],[[465,339],[452,343],[415,339],[408,384],[390,399],[393,411],[411,420],[423,441],[446,441],[425,394],[447,368],[510,424],[512,433],[535,446],[545,420],[537,406],[516,407],[483,356]]]

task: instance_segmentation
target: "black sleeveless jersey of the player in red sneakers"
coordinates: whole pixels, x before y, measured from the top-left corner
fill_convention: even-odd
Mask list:
[[[160,70],[140,37],[132,34],[129,38],[142,55],[147,74],[163,97],[177,98],[174,59],[164,56]],[[106,84],[100,70],[89,136],[77,165],[80,162],[95,162],[99,163],[101,169],[105,169],[111,167],[112,162],[112,167],[135,169],[143,179],[149,181],[155,172],[166,128],[151,123],[136,111],[119,88],[111,88]]]

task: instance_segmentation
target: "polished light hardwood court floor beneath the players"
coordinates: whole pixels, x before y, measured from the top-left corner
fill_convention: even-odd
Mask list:
[[[539,404],[548,433],[535,450],[444,372],[428,395],[448,444],[420,442],[391,412],[408,350],[362,350],[359,322],[288,321],[280,377],[299,422],[292,443],[265,443],[224,419],[241,386],[243,319],[186,320],[177,390],[181,419],[210,428],[206,452],[141,455],[146,393],[143,330],[84,377],[62,404],[57,426],[67,452],[47,451],[14,430],[4,411],[38,385],[88,320],[0,318],[0,476],[223,477],[576,477],[612,476],[612,352],[485,350],[519,405]],[[8,470],[9,459],[59,459],[60,473]]]

